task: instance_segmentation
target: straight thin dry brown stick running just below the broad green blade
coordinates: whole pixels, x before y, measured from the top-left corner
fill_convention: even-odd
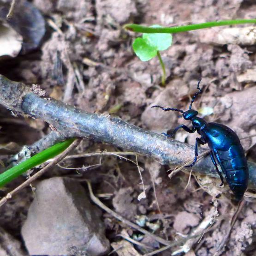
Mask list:
[[[37,178],[39,178],[40,176],[42,176],[42,174],[44,174],[45,172],[47,172],[52,166],[56,165],[58,162],[60,162],[72,149],[75,149],[77,147],[77,145],[81,142],[82,139],[76,139],[67,149],[65,149],[60,155],[56,156],[54,161],[50,162],[46,167],[42,168],[39,172],[37,172],[36,174],[34,174],[31,178],[27,179],[26,181],[24,181],[24,183],[22,183],[21,185],[19,185],[16,189],[14,189],[13,191],[11,191],[10,193],[8,193],[5,197],[3,197],[0,200],[0,207],[5,204],[8,199],[11,199],[12,196],[14,196],[15,194],[17,194],[20,190],[24,189],[24,187],[28,186],[31,184],[32,181],[36,180]]]

